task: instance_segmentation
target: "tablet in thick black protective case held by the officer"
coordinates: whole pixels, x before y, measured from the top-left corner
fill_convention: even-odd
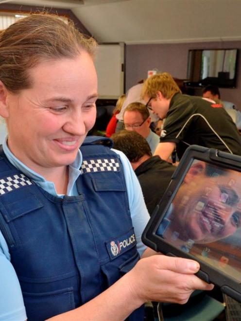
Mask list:
[[[241,157],[190,146],[142,240],[198,261],[200,278],[241,302]]]

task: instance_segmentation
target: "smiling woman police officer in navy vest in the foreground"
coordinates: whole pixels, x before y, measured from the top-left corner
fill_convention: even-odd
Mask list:
[[[145,248],[148,213],[129,162],[108,138],[86,138],[94,51],[47,14],[1,34],[1,320],[143,320],[146,301],[182,304],[213,287],[193,275],[198,263]]]

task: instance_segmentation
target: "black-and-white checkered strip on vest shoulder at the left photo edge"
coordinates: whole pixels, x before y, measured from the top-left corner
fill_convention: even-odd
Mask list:
[[[4,177],[0,179],[0,196],[32,184],[24,174]]]

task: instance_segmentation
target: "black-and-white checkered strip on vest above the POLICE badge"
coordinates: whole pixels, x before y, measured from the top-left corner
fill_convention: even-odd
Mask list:
[[[100,158],[84,160],[81,166],[82,173],[94,173],[100,171],[120,171],[120,164],[114,158]]]

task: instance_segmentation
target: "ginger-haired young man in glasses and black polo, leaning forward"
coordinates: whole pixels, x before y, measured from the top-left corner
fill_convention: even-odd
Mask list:
[[[241,136],[223,105],[183,95],[169,73],[148,78],[142,98],[148,108],[165,119],[155,151],[162,159],[168,160],[175,149],[180,159],[192,144],[241,155]]]

